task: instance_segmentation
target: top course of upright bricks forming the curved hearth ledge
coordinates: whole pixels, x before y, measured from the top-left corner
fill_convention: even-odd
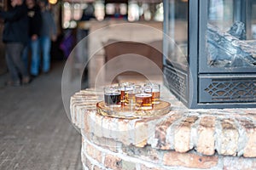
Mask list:
[[[150,145],[206,156],[256,157],[256,109],[178,110],[174,106],[159,119],[124,120],[96,114],[101,95],[82,90],[71,98],[72,122],[84,133],[138,148]]]

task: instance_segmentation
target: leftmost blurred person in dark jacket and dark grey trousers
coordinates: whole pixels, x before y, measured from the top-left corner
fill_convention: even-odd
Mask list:
[[[20,86],[21,82],[27,84],[30,82],[30,77],[21,59],[22,51],[28,41],[26,4],[23,0],[11,0],[11,9],[0,11],[0,18],[4,20],[3,42],[6,44],[5,58],[11,77],[6,84],[10,86]]]

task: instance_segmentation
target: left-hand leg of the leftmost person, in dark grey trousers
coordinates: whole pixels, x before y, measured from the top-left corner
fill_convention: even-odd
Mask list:
[[[8,85],[19,86],[20,85],[19,72],[17,71],[15,62],[14,62],[15,55],[17,54],[17,50],[15,49],[15,47],[16,47],[15,43],[6,44],[5,59],[6,59],[6,64],[8,66],[9,74],[11,77],[11,81],[7,83]]]

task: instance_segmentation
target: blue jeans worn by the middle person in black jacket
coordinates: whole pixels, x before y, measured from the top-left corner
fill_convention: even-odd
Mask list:
[[[30,67],[30,73],[32,76],[38,76],[39,73],[39,63],[40,63],[40,54],[39,54],[39,39],[35,41],[30,41],[26,48],[23,51],[22,59],[26,65],[28,63],[28,51],[31,49],[32,61]]]

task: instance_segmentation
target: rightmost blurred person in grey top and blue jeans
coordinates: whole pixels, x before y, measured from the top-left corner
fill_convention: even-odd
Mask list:
[[[42,27],[40,31],[40,49],[43,54],[43,72],[48,73],[50,69],[50,47],[51,40],[56,41],[57,28],[53,15],[49,11],[49,4],[47,0],[39,0],[39,7],[41,8],[42,14]]]

